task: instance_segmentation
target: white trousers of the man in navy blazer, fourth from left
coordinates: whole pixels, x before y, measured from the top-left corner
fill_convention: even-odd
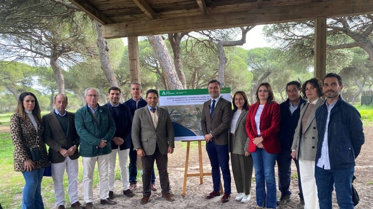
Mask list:
[[[130,149],[120,150],[113,149],[109,154],[109,169],[108,169],[108,176],[109,176],[109,191],[114,190],[114,180],[115,180],[115,161],[116,155],[118,153],[119,158],[119,168],[120,168],[120,179],[122,180],[123,190],[127,190],[130,187],[130,179],[129,179],[129,172],[128,172],[128,157],[130,155]]]

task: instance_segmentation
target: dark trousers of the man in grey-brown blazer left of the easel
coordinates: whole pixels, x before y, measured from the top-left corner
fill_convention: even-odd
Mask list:
[[[154,171],[154,160],[156,161],[158,171],[160,172],[160,188],[162,189],[162,194],[170,193],[170,181],[167,172],[168,157],[167,154],[162,155],[158,145],[156,145],[156,150],[154,151],[153,155],[145,155],[141,157],[143,170],[142,194],[144,196],[150,196],[152,193],[150,186],[152,180],[152,171]]]

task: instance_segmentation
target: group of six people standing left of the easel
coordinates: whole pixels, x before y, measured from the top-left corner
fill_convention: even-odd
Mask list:
[[[15,146],[14,168],[15,171],[22,172],[26,182],[22,208],[44,208],[41,181],[44,169],[49,165],[51,165],[55,203],[58,209],[65,208],[63,186],[65,171],[68,177],[71,207],[94,208],[92,186],[96,163],[99,172],[100,204],[115,205],[116,202],[112,199],[115,197],[114,171],[117,155],[124,195],[130,198],[134,196],[133,190],[137,183],[137,156],[140,156],[144,168],[143,193],[144,197],[148,197],[147,201],[141,203],[147,203],[151,191],[158,189],[155,185],[154,160],[157,161],[160,171],[162,197],[173,201],[167,172],[167,153],[172,153],[174,148],[171,120],[166,110],[157,108],[159,95],[156,90],[149,90],[146,99],[141,97],[141,93],[141,84],[133,82],[132,98],[122,104],[120,103],[121,90],[111,87],[107,94],[109,102],[100,106],[99,92],[87,88],[84,91],[86,105],[75,114],[66,111],[67,96],[57,94],[53,101],[54,111],[43,117],[36,96],[30,92],[21,93],[16,112],[10,119],[10,131]],[[136,110],[141,108],[150,111],[152,115],[149,114],[149,117],[137,115]],[[153,108],[154,113],[151,110]],[[149,124],[154,124],[154,128],[145,130],[145,126],[141,127],[144,124],[147,124],[148,129],[151,129]],[[139,130],[132,133],[132,125]],[[153,140],[149,140],[149,143],[144,142],[142,138],[145,135],[151,136],[157,142]],[[48,152],[46,144],[49,146]],[[165,151],[164,147],[166,147]],[[146,157],[143,157],[145,155]],[[78,200],[80,156],[83,165],[85,206]]]

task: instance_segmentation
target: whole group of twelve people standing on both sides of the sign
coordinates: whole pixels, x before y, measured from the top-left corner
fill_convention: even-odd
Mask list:
[[[230,200],[231,158],[237,188],[235,200],[249,202],[254,168],[257,208],[274,209],[277,205],[284,205],[291,200],[293,160],[298,173],[298,195],[305,209],[332,208],[334,187],[339,207],[353,208],[351,181],[364,134],[360,114],[342,100],[342,89],[342,79],[335,73],[328,73],[323,81],[312,78],[302,86],[292,81],[286,86],[288,99],[278,104],[274,101],[271,86],[262,83],[255,94],[256,102],[249,106],[244,92],[236,92],[231,103],[230,99],[221,97],[219,81],[211,80],[208,83],[211,99],[203,104],[201,118],[213,178],[213,191],[205,198],[211,199],[223,193],[220,201],[226,203]],[[65,208],[65,170],[71,207],[83,208],[78,200],[80,156],[86,209],[94,207],[92,185],[96,163],[100,204],[116,204],[113,199],[117,155],[124,195],[134,196],[138,156],[143,166],[141,204],[147,204],[151,192],[157,191],[155,161],[161,197],[174,201],[167,171],[167,154],[172,154],[175,147],[170,116],[166,109],[158,106],[157,90],[148,90],[145,99],[141,93],[141,85],[132,83],[132,98],[122,104],[121,90],[111,87],[107,94],[109,102],[100,106],[99,92],[87,88],[84,92],[87,104],[75,114],[66,111],[67,96],[57,94],[53,102],[55,110],[43,118],[36,96],[30,92],[22,93],[10,119],[15,146],[14,168],[22,172],[26,182],[22,208],[44,208],[41,181],[44,169],[49,165],[58,209]],[[326,100],[321,98],[323,95]],[[276,162],[281,191],[279,200],[276,195]],[[220,170],[223,191],[220,191]]]

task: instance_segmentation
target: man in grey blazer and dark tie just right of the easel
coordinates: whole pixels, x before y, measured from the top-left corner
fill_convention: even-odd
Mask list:
[[[224,195],[220,202],[226,203],[231,196],[228,129],[232,120],[232,104],[220,96],[219,81],[211,80],[207,87],[211,99],[203,104],[201,126],[212,167],[213,192],[206,199],[220,195],[220,167],[224,180]]]

